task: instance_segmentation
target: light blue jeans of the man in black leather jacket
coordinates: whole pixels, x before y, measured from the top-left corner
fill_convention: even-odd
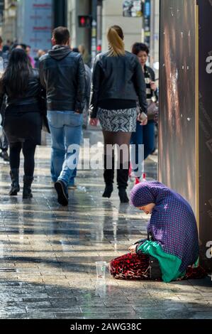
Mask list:
[[[79,147],[82,138],[82,122],[82,114],[72,111],[48,111],[48,123],[52,135],[51,176],[53,182],[61,180],[65,185],[74,185],[79,149],[69,151],[69,146],[75,144]],[[74,166],[70,163],[70,158]]]

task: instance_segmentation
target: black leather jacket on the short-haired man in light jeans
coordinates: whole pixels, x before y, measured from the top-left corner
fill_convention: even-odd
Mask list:
[[[40,58],[40,81],[46,90],[48,110],[83,112],[85,70],[82,55],[68,46],[55,45]]]

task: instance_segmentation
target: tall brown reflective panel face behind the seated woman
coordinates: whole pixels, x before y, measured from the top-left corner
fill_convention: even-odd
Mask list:
[[[159,179],[196,212],[195,0],[162,0]]]

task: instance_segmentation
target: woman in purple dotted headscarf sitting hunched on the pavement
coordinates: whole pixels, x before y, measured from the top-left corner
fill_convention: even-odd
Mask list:
[[[116,279],[153,279],[164,282],[200,279],[206,272],[196,267],[199,237],[191,206],[181,195],[160,182],[135,185],[131,203],[151,214],[147,239],[113,259],[110,271]]]

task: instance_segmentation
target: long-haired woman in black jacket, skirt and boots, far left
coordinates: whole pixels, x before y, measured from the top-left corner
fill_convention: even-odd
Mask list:
[[[23,150],[23,198],[32,198],[31,184],[35,168],[35,148],[41,142],[41,86],[38,71],[31,68],[26,52],[15,49],[0,80],[0,108],[6,95],[4,131],[9,140],[11,190],[17,195],[20,153]]]

